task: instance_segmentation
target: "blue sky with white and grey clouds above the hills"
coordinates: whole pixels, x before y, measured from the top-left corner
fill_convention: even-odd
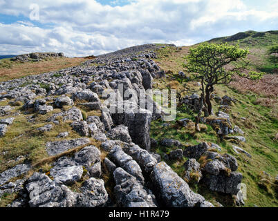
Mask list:
[[[82,57],[277,29],[277,0],[0,0],[0,55]]]

